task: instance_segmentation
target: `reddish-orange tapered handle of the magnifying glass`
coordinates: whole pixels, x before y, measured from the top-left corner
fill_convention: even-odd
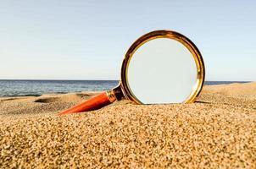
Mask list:
[[[105,91],[102,94],[96,95],[87,101],[82,102],[79,105],[72,106],[71,108],[64,110],[63,112],[58,112],[58,116],[77,113],[77,112],[88,112],[94,111],[103,106],[107,106],[113,101],[115,101],[115,95],[113,90]]]

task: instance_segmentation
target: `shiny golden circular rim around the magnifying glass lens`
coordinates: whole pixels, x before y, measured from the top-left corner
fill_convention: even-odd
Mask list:
[[[170,38],[172,40],[179,41],[181,42],[181,44],[186,46],[186,48],[192,53],[192,56],[197,65],[197,71],[198,71],[197,81],[194,87],[192,88],[191,94],[186,98],[185,101],[183,101],[183,103],[194,102],[203,88],[203,82],[205,77],[203,57],[199,52],[198,47],[195,46],[195,44],[193,44],[192,41],[190,41],[185,35],[181,35],[180,33],[175,32],[173,30],[155,30],[155,31],[149,32],[146,35],[142,35],[131,45],[131,47],[128,49],[128,51],[125,54],[125,58],[123,60],[122,68],[121,68],[120,86],[123,94],[127,99],[130,99],[131,101],[135,101],[137,104],[143,104],[141,101],[139,101],[136,98],[136,95],[132,93],[131,88],[128,84],[128,79],[127,79],[128,65],[131,61],[131,57],[140,46],[145,44],[147,41],[151,41],[157,38]]]

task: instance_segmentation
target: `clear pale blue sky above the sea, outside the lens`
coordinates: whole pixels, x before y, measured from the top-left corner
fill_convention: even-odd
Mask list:
[[[176,30],[206,80],[256,81],[256,1],[0,1],[0,79],[120,79],[126,50]]]

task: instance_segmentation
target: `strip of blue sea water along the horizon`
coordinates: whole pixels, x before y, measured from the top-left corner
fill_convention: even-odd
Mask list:
[[[205,81],[204,85],[247,83],[246,81]],[[118,80],[27,80],[0,79],[0,97],[65,94],[89,90],[110,90]]]

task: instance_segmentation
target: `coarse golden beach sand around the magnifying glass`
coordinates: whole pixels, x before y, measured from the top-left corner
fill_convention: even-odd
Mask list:
[[[0,168],[256,168],[256,83],[204,86],[193,104],[54,116],[96,94],[1,98]]]

